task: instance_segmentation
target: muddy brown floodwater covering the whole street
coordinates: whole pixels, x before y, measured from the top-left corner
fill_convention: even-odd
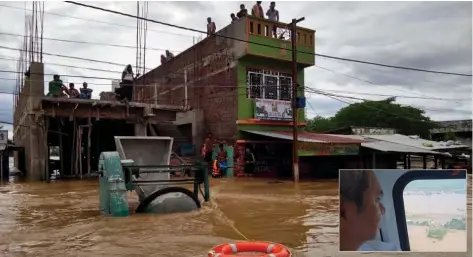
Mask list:
[[[214,245],[244,239],[283,243],[294,256],[353,256],[337,251],[337,189],[336,180],[218,179],[199,211],[110,218],[98,211],[97,181],[4,183],[0,256],[203,257]],[[471,200],[468,209],[471,221]],[[471,256],[469,236],[469,255],[419,256]]]

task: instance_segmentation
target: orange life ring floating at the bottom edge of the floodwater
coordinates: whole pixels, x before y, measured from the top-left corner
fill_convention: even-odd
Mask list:
[[[241,255],[237,253],[262,253]],[[209,251],[209,257],[290,257],[291,251],[281,244],[271,242],[236,242],[217,245]]]

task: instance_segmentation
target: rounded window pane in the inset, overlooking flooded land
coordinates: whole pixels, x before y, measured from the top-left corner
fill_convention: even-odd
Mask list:
[[[413,180],[403,202],[411,251],[467,250],[465,179]]]

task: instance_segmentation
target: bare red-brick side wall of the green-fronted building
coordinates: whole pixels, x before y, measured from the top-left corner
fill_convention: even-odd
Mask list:
[[[202,109],[206,132],[234,142],[237,136],[237,72],[231,44],[206,38],[145,74],[134,86],[134,101]],[[187,81],[185,80],[187,78]]]

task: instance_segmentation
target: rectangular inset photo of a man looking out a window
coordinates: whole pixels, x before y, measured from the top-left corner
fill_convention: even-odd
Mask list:
[[[466,170],[340,170],[340,251],[467,251]]]

